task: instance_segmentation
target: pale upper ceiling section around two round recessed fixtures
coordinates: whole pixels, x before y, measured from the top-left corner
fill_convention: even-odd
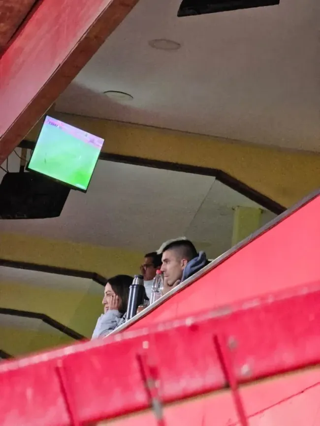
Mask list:
[[[177,18],[180,1],[140,0],[57,110],[320,152],[319,0]]]

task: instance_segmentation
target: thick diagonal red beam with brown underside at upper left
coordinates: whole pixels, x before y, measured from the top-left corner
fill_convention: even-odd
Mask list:
[[[0,58],[0,163],[138,0],[43,0]]]

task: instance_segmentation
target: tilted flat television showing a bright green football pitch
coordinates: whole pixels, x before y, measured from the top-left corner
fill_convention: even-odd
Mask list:
[[[103,139],[47,116],[28,170],[86,192]]]

